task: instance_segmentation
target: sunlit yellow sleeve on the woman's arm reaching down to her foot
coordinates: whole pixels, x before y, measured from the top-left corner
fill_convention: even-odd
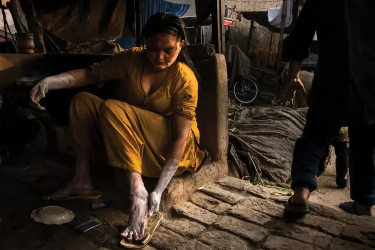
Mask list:
[[[198,102],[198,81],[190,69],[181,70],[172,92],[174,113],[193,120]]]

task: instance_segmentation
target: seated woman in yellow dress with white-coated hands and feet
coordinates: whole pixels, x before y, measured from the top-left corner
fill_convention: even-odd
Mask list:
[[[47,77],[30,92],[38,109],[48,90],[125,79],[126,102],[81,92],[69,110],[68,143],[77,155],[71,182],[45,199],[89,195],[89,158],[105,146],[109,165],[125,169],[130,189],[129,240],[140,239],[148,215],[158,211],[173,175],[196,171],[207,159],[195,118],[197,74],[186,53],[186,27],[171,13],[157,13],[142,29],[145,48],[124,50],[85,69]],[[148,194],[141,175],[158,178]]]

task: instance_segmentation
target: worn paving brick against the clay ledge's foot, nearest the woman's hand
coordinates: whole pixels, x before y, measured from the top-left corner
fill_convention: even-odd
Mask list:
[[[217,214],[214,214],[210,211],[207,211],[191,202],[185,201],[180,202],[173,206],[175,212],[201,222],[205,225],[210,225],[216,221],[219,217]]]

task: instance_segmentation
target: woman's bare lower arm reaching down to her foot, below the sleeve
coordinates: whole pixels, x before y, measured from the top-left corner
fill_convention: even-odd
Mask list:
[[[149,195],[148,215],[152,215],[159,210],[161,194],[177,170],[185,151],[191,124],[191,120],[186,117],[178,114],[172,116],[172,143],[156,187]]]

